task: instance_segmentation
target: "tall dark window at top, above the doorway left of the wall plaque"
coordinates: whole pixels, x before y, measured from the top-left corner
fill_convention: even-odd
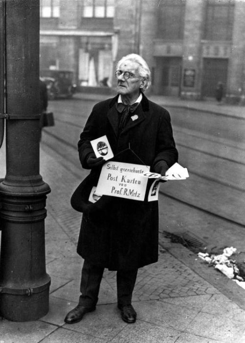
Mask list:
[[[158,7],[157,38],[183,39],[185,0],[163,0]]]

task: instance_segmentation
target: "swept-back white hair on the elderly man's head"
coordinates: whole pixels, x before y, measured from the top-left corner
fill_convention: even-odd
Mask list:
[[[138,71],[140,76],[147,80],[147,83],[142,91],[147,90],[151,84],[151,74],[147,62],[140,55],[137,55],[136,53],[130,53],[121,58],[121,60],[117,63],[116,70],[118,70],[121,64],[126,61],[132,61],[138,64]]]

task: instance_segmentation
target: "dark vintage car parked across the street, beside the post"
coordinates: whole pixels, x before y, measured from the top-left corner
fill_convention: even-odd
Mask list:
[[[67,70],[42,70],[41,80],[46,83],[48,98],[72,98],[76,91],[73,72]]]

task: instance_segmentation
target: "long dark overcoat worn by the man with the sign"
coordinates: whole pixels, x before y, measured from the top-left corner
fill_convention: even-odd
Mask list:
[[[93,152],[91,140],[106,135],[114,156],[130,147],[141,164],[151,167],[161,160],[171,167],[178,157],[172,136],[169,112],[143,99],[121,133],[115,103],[118,96],[96,104],[80,135],[79,158],[82,167]],[[127,156],[127,154],[125,154]],[[122,159],[121,159],[122,160]],[[130,157],[123,162],[132,163]],[[138,163],[139,164],[139,163]],[[83,212],[77,252],[90,263],[109,270],[135,269],[158,260],[158,201],[137,201],[102,196],[95,204],[88,199],[97,185],[101,167],[91,171],[72,198],[73,207]],[[86,206],[86,201],[87,205]],[[83,206],[80,204],[83,203]]]

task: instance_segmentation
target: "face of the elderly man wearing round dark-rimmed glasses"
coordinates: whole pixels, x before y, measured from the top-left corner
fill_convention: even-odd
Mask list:
[[[144,80],[138,72],[138,64],[132,61],[125,61],[119,66],[118,70],[121,71],[122,74],[118,76],[117,93],[132,98],[137,96],[140,93],[140,88],[144,84]],[[135,77],[129,77],[126,80],[123,76],[124,72],[128,72]]]

